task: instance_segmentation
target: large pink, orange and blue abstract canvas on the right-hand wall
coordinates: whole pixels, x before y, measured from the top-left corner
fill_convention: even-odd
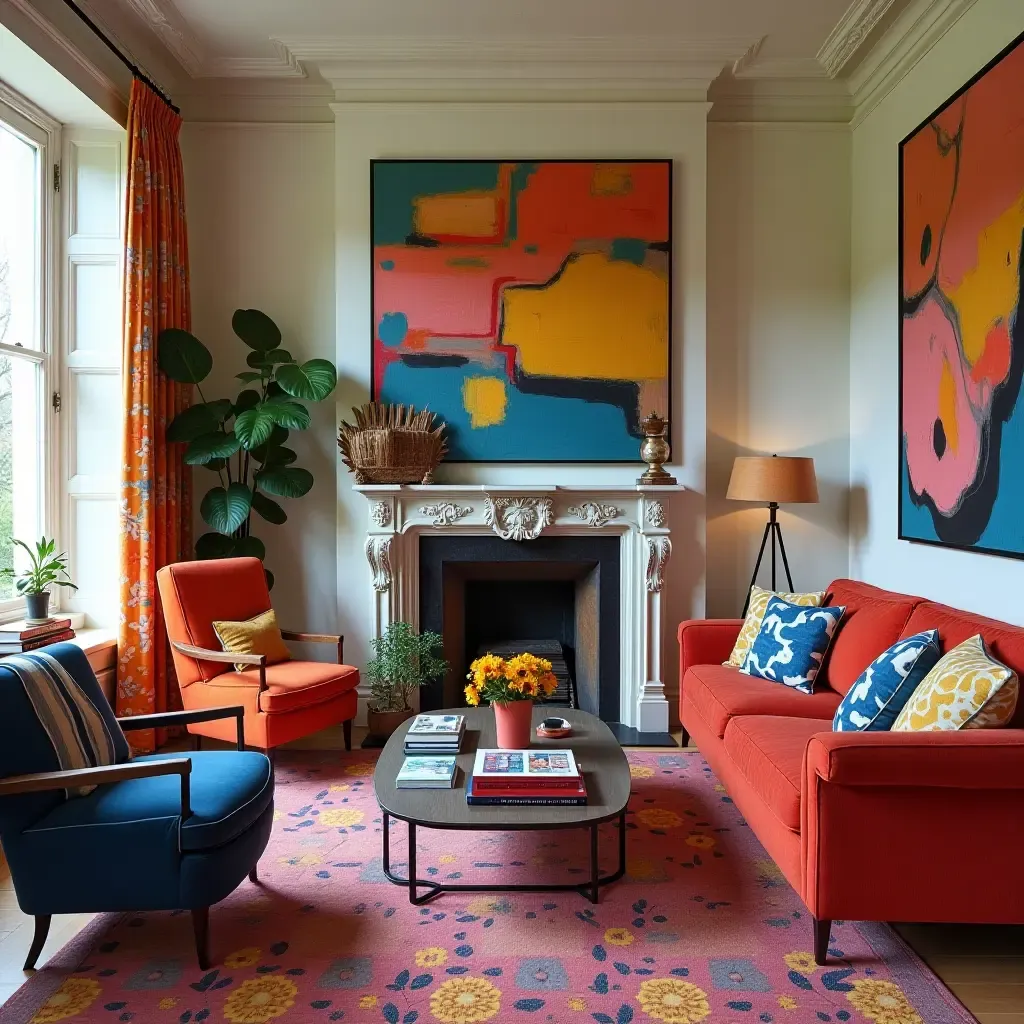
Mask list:
[[[1024,37],[899,173],[899,536],[1024,557]]]

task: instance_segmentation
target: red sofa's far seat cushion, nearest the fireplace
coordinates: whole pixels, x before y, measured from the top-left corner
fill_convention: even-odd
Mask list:
[[[721,738],[734,715],[783,715],[822,721],[831,728],[842,696],[819,686],[801,693],[765,679],[744,676],[727,665],[695,665],[683,679],[683,689],[715,735]]]

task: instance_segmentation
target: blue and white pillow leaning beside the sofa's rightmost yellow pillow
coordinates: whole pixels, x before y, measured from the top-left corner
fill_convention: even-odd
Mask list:
[[[834,732],[891,729],[903,706],[941,655],[939,631],[926,630],[897,640],[864,669],[843,697]]]

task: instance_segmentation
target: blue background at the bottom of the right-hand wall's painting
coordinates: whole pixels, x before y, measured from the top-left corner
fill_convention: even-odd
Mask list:
[[[1024,503],[1022,503],[1018,467],[1024,466],[1024,396],[1018,400],[1010,419],[1002,425],[999,443],[999,488],[992,504],[988,524],[974,547],[989,551],[1024,554]],[[931,511],[914,505],[910,496],[910,476],[906,452],[900,459],[902,489],[902,536],[914,541],[938,541]]]

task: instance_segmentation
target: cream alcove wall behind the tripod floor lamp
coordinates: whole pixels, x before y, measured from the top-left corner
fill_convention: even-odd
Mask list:
[[[849,287],[849,128],[712,122],[710,615],[739,614],[767,519],[725,500],[737,455],[814,459],[820,504],[779,512],[794,585],[817,590],[848,572]],[[770,583],[767,556],[759,579]]]

